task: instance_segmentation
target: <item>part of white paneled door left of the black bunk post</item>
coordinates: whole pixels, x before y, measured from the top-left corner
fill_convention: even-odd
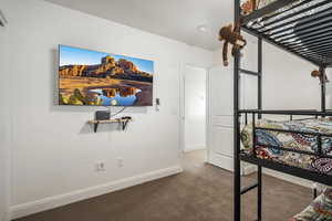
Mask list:
[[[234,168],[232,70],[216,66],[208,73],[208,161],[227,170]]]

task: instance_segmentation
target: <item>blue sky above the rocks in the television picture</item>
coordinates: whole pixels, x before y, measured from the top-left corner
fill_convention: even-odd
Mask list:
[[[147,72],[149,74],[154,73],[154,62],[149,60],[142,60],[136,57],[129,57],[124,55],[96,52],[92,50],[79,49],[66,45],[59,45],[59,63],[60,66],[71,65],[71,64],[101,64],[101,60],[104,56],[111,55],[118,61],[120,59],[125,59],[127,61],[133,62],[139,71]]]

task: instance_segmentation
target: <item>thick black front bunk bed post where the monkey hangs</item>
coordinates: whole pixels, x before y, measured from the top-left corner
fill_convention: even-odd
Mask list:
[[[240,22],[240,0],[235,0],[235,24]],[[240,28],[241,30],[241,28]],[[241,160],[239,116],[240,53],[234,60],[234,221],[241,221]]]

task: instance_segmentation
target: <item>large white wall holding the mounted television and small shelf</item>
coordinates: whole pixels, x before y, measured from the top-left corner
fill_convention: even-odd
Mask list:
[[[210,66],[211,52],[41,0],[6,0],[1,8],[11,46],[4,77],[12,101],[14,217],[179,171],[180,67]],[[102,108],[54,104],[58,44],[155,61],[160,110],[129,108],[127,131],[108,125],[94,134],[85,123]],[[98,160],[106,171],[94,171]]]

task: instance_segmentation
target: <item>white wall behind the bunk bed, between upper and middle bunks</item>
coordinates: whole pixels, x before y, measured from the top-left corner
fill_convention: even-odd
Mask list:
[[[241,67],[257,71],[257,41],[249,40],[241,60]],[[221,46],[221,45],[220,45]],[[234,59],[230,57],[232,61]],[[214,64],[220,65],[221,50],[215,51]],[[230,64],[232,65],[232,64]],[[320,85],[310,73],[314,65],[287,53],[269,43],[263,43],[262,106],[264,109],[319,109]],[[256,87],[256,85],[253,85]],[[329,85],[328,85],[329,86]],[[245,95],[246,96],[246,95]],[[243,98],[243,97],[242,97]],[[249,97],[246,97],[250,99]],[[251,106],[245,106],[243,108]]]

